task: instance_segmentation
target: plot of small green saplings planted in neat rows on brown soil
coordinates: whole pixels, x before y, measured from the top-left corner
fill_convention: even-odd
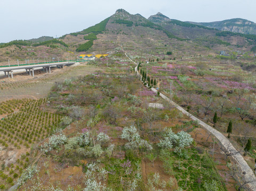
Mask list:
[[[36,103],[35,106],[40,105],[42,101],[43,99],[39,100],[39,104]],[[52,132],[53,125],[60,122],[60,116],[40,111],[37,107],[34,108],[35,112],[31,112],[32,116],[26,113],[28,110],[23,110],[3,120],[0,125],[2,134],[5,135],[4,139],[1,138],[2,145],[9,146],[7,144],[9,142],[18,148],[20,144],[29,147],[29,144],[47,137]]]

